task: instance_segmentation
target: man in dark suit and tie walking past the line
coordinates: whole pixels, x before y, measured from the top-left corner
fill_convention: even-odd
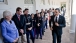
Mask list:
[[[65,18],[60,14],[60,9],[55,9],[55,15],[51,16],[49,21],[50,29],[52,30],[53,43],[61,43],[62,28],[66,26]]]

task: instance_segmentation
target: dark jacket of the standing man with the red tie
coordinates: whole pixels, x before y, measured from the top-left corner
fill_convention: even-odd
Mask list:
[[[20,15],[20,20],[18,19],[18,16],[15,14],[12,18],[12,20],[15,22],[15,25],[19,31],[19,35],[21,36],[22,34],[20,33],[20,29],[24,30],[24,34],[26,33],[26,19],[23,15]]]

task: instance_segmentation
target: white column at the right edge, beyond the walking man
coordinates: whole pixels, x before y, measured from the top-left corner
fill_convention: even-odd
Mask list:
[[[75,33],[75,24],[76,24],[76,0],[73,0],[70,33]]]

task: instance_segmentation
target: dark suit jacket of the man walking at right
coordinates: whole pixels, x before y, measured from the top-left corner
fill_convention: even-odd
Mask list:
[[[54,21],[55,16],[54,15],[51,16],[50,18],[51,18],[49,21],[50,27],[51,27],[51,23],[53,23],[53,27],[52,27],[53,30],[52,31],[61,35],[62,34],[62,28],[66,26],[65,18],[63,16],[59,15],[59,19],[58,19],[59,26],[55,25],[55,21]]]

